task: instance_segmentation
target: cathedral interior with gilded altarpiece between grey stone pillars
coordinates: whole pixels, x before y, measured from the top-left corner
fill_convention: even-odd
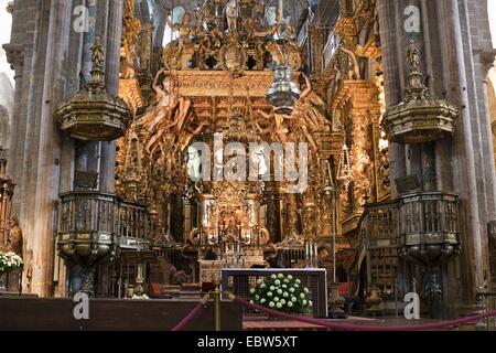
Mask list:
[[[349,313],[494,300],[486,0],[1,11],[0,249],[24,261],[7,291],[200,298],[223,269],[324,268]]]

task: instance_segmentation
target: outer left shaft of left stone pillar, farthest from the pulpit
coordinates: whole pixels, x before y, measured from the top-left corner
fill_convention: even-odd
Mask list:
[[[43,101],[44,54],[48,28],[48,3],[40,0],[15,1],[10,44],[4,46],[15,68],[14,110],[11,126],[9,174],[17,193],[12,214],[19,217],[24,234],[24,261],[32,263],[34,193],[37,180],[39,125]],[[40,55],[43,53],[43,55]]]

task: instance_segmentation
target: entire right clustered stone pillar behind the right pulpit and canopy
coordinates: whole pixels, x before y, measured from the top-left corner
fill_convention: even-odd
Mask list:
[[[431,95],[461,111],[452,139],[405,148],[392,143],[389,149],[391,180],[417,174],[425,191],[460,194],[462,255],[444,269],[443,302],[450,314],[462,301],[474,303],[476,289],[490,277],[487,224],[495,217],[496,180],[483,93],[483,57],[490,46],[486,4],[474,0],[377,2],[387,106],[397,105],[406,89],[405,47],[413,39],[422,49],[421,71]],[[395,183],[391,186],[396,189]]]

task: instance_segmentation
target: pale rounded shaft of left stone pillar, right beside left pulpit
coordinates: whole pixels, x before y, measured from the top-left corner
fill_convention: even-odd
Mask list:
[[[64,98],[72,8],[68,1],[53,0],[50,8],[43,106],[40,119],[40,153],[35,192],[33,242],[33,292],[46,297],[52,290],[54,212],[58,200],[61,132],[54,118]]]

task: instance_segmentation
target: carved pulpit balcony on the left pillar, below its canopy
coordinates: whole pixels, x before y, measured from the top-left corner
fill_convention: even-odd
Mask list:
[[[60,255],[72,263],[91,266],[120,249],[145,250],[149,215],[144,205],[101,192],[61,195]]]

